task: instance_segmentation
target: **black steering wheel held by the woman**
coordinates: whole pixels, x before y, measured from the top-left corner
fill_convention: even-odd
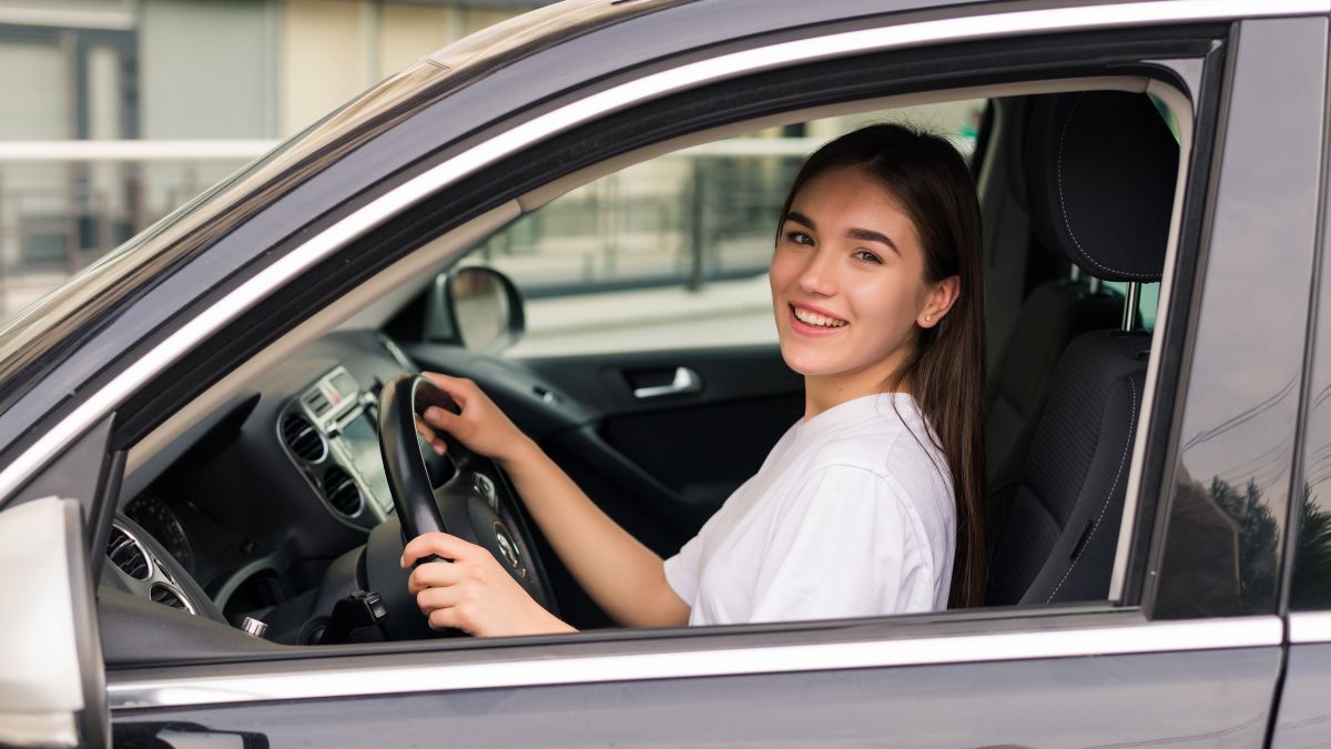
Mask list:
[[[379,394],[379,449],[402,524],[402,544],[442,530],[483,546],[538,604],[555,612],[544,569],[507,477],[495,461],[473,453],[447,433],[441,432],[447,445],[445,454],[435,453],[417,432],[417,420],[431,405],[458,413],[453,398],[419,374],[398,374]]]

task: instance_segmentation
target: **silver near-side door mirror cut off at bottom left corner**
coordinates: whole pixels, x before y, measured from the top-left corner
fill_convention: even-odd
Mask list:
[[[0,512],[0,745],[108,746],[110,712],[77,500]]]

